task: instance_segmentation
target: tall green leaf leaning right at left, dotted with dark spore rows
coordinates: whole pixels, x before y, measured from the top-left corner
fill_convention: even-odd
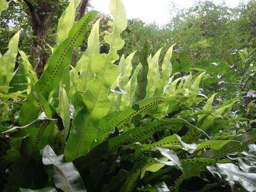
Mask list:
[[[47,61],[48,67],[35,85],[38,93],[48,100],[49,93],[59,86],[64,70],[69,66],[73,48],[83,42],[88,23],[95,17],[96,12],[90,11],[81,18],[70,30],[68,38],[63,41]],[[37,118],[40,110],[34,107],[33,98],[28,99],[21,108],[19,124],[24,125]]]

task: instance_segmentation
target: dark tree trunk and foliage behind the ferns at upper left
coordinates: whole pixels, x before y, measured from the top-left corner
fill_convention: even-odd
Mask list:
[[[47,44],[55,44],[58,19],[68,3],[68,0],[18,0],[11,2],[9,9],[1,15],[1,37],[7,41],[14,35],[15,29],[22,30],[20,49],[30,55],[30,61],[38,77],[42,75],[45,63],[51,54]],[[77,8],[79,14],[76,16],[76,21],[83,17],[88,5],[88,0],[81,1]],[[0,44],[0,49],[6,50],[6,45],[6,42],[2,46]]]

